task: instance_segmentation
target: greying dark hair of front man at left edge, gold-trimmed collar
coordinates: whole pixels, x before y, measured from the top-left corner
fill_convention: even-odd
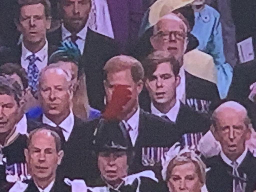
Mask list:
[[[17,104],[22,98],[22,90],[17,81],[12,78],[0,76],[0,95],[13,96]]]

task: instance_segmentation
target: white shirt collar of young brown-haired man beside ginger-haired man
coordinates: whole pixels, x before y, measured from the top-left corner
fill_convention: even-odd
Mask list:
[[[161,113],[158,109],[156,109],[154,104],[151,103],[151,113],[152,114],[159,116],[159,117],[166,115],[169,118],[169,120],[171,120],[172,122],[176,122],[176,119],[177,119],[177,116],[179,113],[179,108],[180,108],[180,101],[177,100],[175,105],[173,106],[173,108],[170,109],[166,114],[164,114],[164,113]]]

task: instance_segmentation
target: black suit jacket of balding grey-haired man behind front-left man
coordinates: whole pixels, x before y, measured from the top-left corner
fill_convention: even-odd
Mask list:
[[[94,168],[91,162],[93,132],[92,127],[86,126],[81,119],[74,117],[74,127],[67,142],[63,142],[64,156],[61,165],[57,169],[60,178],[69,179],[92,179]],[[40,119],[42,121],[42,119]],[[38,123],[30,122],[28,129],[33,130]]]

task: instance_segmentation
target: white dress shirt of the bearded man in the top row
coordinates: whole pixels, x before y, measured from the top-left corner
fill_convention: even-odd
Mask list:
[[[88,22],[86,23],[86,25],[84,26],[84,28],[79,31],[76,35],[78,37],[78,39],[76,40],[76,44],[81,52],[81,55],[83,54],[84,51],[84,46],[85,46],[85,40],[86,40],[86,36],[87,36],[87,31],[88,31]],[[62,40],[71,40],[70,36],[72,35],[68,29],[66,29],[66,27],[64,27],[64,25],[62,24],[61,26],[61,33],[62,33]]]

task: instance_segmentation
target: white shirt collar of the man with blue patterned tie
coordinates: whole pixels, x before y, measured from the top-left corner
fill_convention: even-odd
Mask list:
[[[24,43],[22,42],[22,59],[24,61],[27,60],[27,57],[32,55],[33,53],[31,51],[29,51]],[[44,61],[46,58],[48,58],[48,41],[46,39],[46,43],[45,43],[45,46],[39,50],[38,52],[35,53],[36,57],[38,57],[40,59],[40,61]]]

